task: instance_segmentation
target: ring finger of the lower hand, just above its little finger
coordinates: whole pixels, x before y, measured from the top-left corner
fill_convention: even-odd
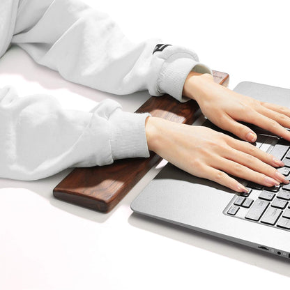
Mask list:
[[[241,165],[237,162],[227,160],[225,158],[218,159],[220,160],[217,162],[217,165],[215,165],[215,168],[225,171],[228,174],[246,179],[247,181],[253,181],[254,183],[259,183],[267,187],[280,184],[280,182],[276,181],[275,179],[245,167],[244,165]]]

